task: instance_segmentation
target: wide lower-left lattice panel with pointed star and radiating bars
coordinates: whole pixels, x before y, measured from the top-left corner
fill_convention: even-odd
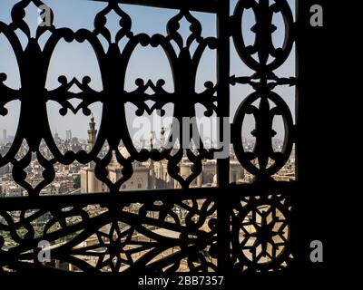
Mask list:
[[[0,230],[13,247],[1,238],[0,266],[33,266],[46,240],[52,260],[77,271],[215,271],[215,218],[215,203],[195,198],[2,210]]]

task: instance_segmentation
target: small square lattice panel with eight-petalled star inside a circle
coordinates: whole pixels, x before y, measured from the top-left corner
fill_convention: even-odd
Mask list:
[[[292,259],[289,202],[282,195],[242,198],[232,216],[232,260],[240,271],[276,271]]]

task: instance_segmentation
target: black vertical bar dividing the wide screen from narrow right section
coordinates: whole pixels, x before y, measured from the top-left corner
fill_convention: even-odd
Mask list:
[[[230,117],[230,33],[229,33],[230,0],[218,1],[217,36],[219,47],[217,53],[218,80],[218,116]],[[222,121],[220,123],[223,135]],[[230,148],[228,149],[230,150]],[[229,272],[230,261],[230,217],[226,189],[230,183],[230,158],[217,160],[217,181],[219,190],[218,202],[218,267],[221,272]]]

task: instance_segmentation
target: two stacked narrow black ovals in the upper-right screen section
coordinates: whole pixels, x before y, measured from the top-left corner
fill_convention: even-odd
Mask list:
[[[255,34],[255,42],[251,45],[245,44],[241,29],[243,14],[247,9],[253,11],[256,19],[251,28]],[[273,14],[281,14],[285,22],[285,37],[281,47],[275,47],[272,42],[272,34],[277,29],[272,24]],[[293,77],[279,78],[274,73],[286,61],[294,43],[293,17],[287,1],[274,1],[270,5],[269,0],[246,0],[239,1],[236,5],[231,21],[232,37],[240,59],[255,72],[251,76],[231,77],[231,84],[247,83],[255,90],[240,103],[234,117],[233,146],[242,166],[256,179],[270,179],[270,176],[278,172],[289,159],[293,144],[293,122],[289,106],[279,94],[272,91],[279,85],[291,86],[296,83]],[[255,53],[256,57],[253,56]],[[272,108],[270,102],[273,103]],[[252,115],[256,122],[256,128],[251,132],[256,143],[251,152],[243,148],[240,134],[247,115]],[[276,135],[272,123],[276,116],[282,116],[285,129],[285,140],[280,152],[272,149],[272,138]],[[257,164],[252,162],[255,159]],[[272,160],[272,164],[269,163],[269,159]]]

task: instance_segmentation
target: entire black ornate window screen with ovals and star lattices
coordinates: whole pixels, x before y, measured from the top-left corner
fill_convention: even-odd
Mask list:
[[[14,50],[21,78],[21,89],[5,84],[0,73],[0,114],[8,111],[5,104],[21,102],[21,112],[15,140],[1,155],[0,167],[11,164],[17,184],[27,196],[0,199],[0,269],[20,271],[31,268],[66,267],[73,271],[142,271],[155,273],[175,271],[282,271],[294,259],[293,198],[295,183],[277,181],[273,175],[289,160],[294,144],[295,125],[287,103],[274,91],[283,85],[295,85],[293,76],[279,77],[276,70],[286,62],[295,41],[294,19],[286,0],[240,0],[230,15],[230,3],[224,0],[122,0],[104,1],[108,5],[94,19],[93,30],[39,26],[31,37],[25,23],[25,7],[44,5],[39,0],[18,1],[12,9],[12,22],[0,22],[0,35]],[[177,9],[166,24],[167,34],[135,34],[132,19],[123,11],[123,4],[150,5]],[[91,4],[92,5],[92,4]],[[255,41],[246,44],[243,35],[245,11],[255,15],[251,31]],[[106,27],[106,15],[120,16],[120,29],[114,39]],[[217,15],[217,37],[203,37],[202,25],[192,11]],[[281,47],[272,43],[276,27],[274,14],[280,14],[285,25]],[[183,41],[179,23],[190,24],[190,35]],[[23,49],[16,30],[27,38]],[[40,48],[38,40],[50,36]],[[103,47],[100,37],[107,43]],[[102,76],[103,89],[93,90],[89,77],[67,80],[59,77],[59,86],[46,90],[45,82],[51,57],[57,43],[90,43]],[[103,40],[103,41],[104,41]],[[240,62],[253,71],[250,75],[230,75],[230,41]],[[125,42],[123,50],[118,45]],[[191,53],[191,44],[196,49]],[[127,64],[135,47],[160,47],[172,68],[173,92],[167,92],[164,82],[136,82],[133,92],[124,90]],[[203,92],[196,92],[195,82],[201,56],[206,49],[217,51],[217,82],[206,82]],[[161,111],[172,103],[175,121],[194,117],[195,105],[205,108],[205,116],[230,116],[230,86],[249,85],[253,92],[246,96],[231,123],[231,145],[240,165],[255,179],[251,184],[230,183],[229,158],[217,161],[218,188],[190,189],[191,182],[202,171],[202,161],[212,160],[219,148],[197,150],[137,150],[132,142],[125,117],[125,105],[131,102],[137,114]],[[72,86],[80,92],[70,92]],[[152,91],[152,93],[150,93]],[[291,96],[292,98],[294,96]],[[74,108],[71,99],[81,102]],[[103,105],[102,121],[92,150],[63,152],[57,147],[49,126],[46,103],[58,102],[61,113],[83,111],[90,115],[94,102]],[[152,101],[150,108],[147,102]],[[253,150],[243,146],[241,131],[246,116],[253,116],[255,138]],[[272,146],[274,118],[280,116],[284,125],[284,141],[280,151]],[[176,127],[176,126],[175,126]],[[172,127],[174,128],[174,126]],[[220,127],[221,135],[225,128]],[[175,133],[175,132],[174,132]],[[179,136],[182,144],[185,136]],[[119,150],[120,142],[128,156]],[[166,140],[171,142],[171,140]],[[189,140],[191,141],[191,136]],[[23,143],[27,151],[19,157]],[[104,143],[107,153],[100,157]],[[45,158],[41,144],[51,152]],[[174,145],[174,144],[172,144]],[[201,142],[202,145],[202,142]],[[191,175],[182,177],[178,164],[184,154],[193,164]],[[36,156],[43,167],[43,180],[35,187],[26,179],[26,168]],[[106,167],[115,159],[122,166],[122,178],[113,182]],[[118,192],[132,178],[135,162],[167,160],[168,174],[182,189],[138,190]],[[54,164],[68,165],[78,161],[94,165],[97,179],[103,181],[109,193],[42,196],[40,191],[55,177]],[[38,258],[40,241],[48,241],[51,260]]]

